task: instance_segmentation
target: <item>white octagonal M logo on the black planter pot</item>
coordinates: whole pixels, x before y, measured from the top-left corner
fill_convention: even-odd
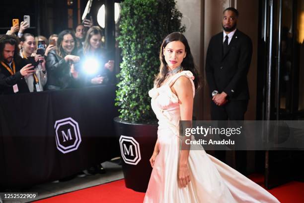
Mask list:
[[[137,165],[142,159],[139,143],[133,137],[121,135],[119,144],[121,156],[125,163]]]

